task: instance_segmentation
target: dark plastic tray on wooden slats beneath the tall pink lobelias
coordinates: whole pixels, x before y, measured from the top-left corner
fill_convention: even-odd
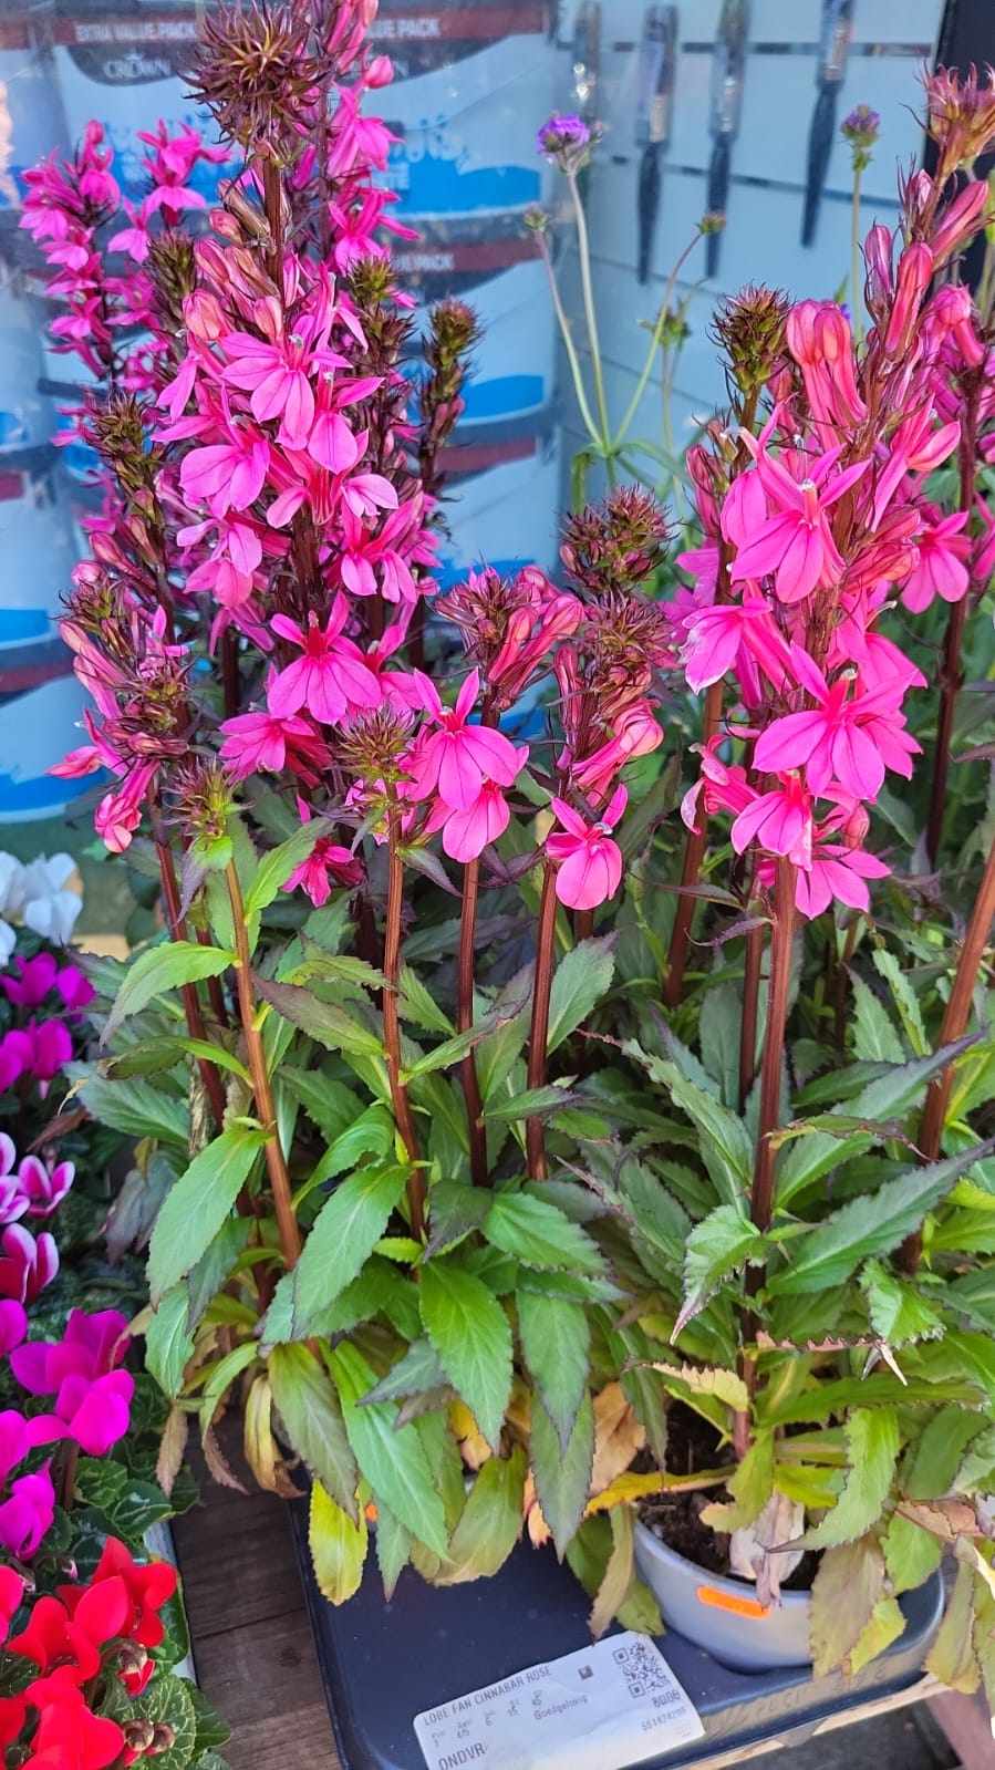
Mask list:
[[[590,1643],[590,1600],[551,1551],[515,1549],[494,1579],[427,1586],[400,1575],[390,1604],[374,1556],[349,1604],[335,1609],[315,1586],[308,1552],[308,1512],[292,1504],[294,1540],[331,1724],[343,1770],[425,1770],[413,1720],[483,1685]],[[713,1754],[745,1751],[760,1740],[806,1738],[827,1715],[839,1717],[871,1697],[908,1690],[937,1632],[944,1605],[940,1579],[901,1600],[908,1627],[901,1641],[857,1678],[834,1673],[813,1680],[806,1667],[735,1673],[683,1635],[667,1632],[660,1648],[705,1726],[705,1738],[639,1770],[706,1765]]]

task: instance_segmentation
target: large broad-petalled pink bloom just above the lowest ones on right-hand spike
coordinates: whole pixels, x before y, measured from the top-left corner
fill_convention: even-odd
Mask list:
[[[825,793],[839,782],[853,798],[876,798],[885,768],[910,779],[919,743],[905,729],[898,706],[901,687],[875,689],[850,699],[853,676],[839,676],[830,687],[797,644],[791,646],[791,667],[816,706],[806,713],[786,713],[760,735],[754,766],[761,773],[804,768],[811,793]]]

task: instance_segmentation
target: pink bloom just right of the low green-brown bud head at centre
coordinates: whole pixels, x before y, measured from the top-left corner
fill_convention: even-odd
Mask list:
[[[480,671],[469,673],[453,708],[443,706],[436,683],[423,671],[411,674],[423,710],[439,729],[421,736],[411,750],[407,796],[428,798],[437,791],[451,811],[471,811],[485,781],[512,786],[524,766],[522,752],[501,731],[467,722]]]

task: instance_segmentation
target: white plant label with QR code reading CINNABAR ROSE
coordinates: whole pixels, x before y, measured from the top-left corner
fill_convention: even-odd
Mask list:
[[[627,1770],[705,1735],[648,1635],[627,1630],[414,1717],[428,1770]]]

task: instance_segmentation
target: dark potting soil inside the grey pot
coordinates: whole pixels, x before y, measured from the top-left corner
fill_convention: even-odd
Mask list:
[[[683,1402],[675,1402],[667,1409],[667,1473],[692,1474],[696,1469],[721,1469],[722,1464],[733,1467],[729,1446],[719,1446],[717,1432],[701,1414],[696,1414]],[[722,1489],[701,1489],[685,1494],[660,1494],[639,1504],[639,1517],[653,1536],[682,1554],[687,1561],[706,1574],[721,1574],[722,1579],[735,1579],[742,1586],[751,1586],[749,1579],[740,1579],[729,1566],[729,1538],[724,1531],[713,1531],[701,1522],[705,1508],[724,1499]],[[818,1556],[806,1554],[793,1574],[783,1581],[783,1591],[807,1591],[818,1568]]]

